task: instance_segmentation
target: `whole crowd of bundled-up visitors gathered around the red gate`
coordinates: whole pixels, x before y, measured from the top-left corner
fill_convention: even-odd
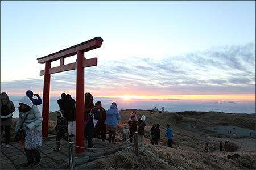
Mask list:
[[[23,168],[28,168],[31,165],[39,165],[42,158],[38,148],[42,146],[42,114],[37,105],[42,104],[42,99],[38,94],[34,94],[31,90],[26,91],[26,96],[19,101],[19,119],[15,131],[22,129],[24,131],[20,139],[20,145],[24,147],[27,156],[27,163]],[[64,139],[71,142],[71,137],[76,135],[76,101],[70,94],[61,94],[61,99],[57,100],[59,111],[57,111],[57,122],[55,130],[56,148],[53,151],[60,151],[60,140]],[[1,135],[3,130],[6,135],[6,142],[2,143],[1,147],[10,147],[10,127],[13,125],[12,116],[15,107],[9,96],[1,93]],[[93,145],[92,139],[98,138],[105,141],[108,134],[108,142],[116,144],[115,135],[118,129],[118,120],[121,118],[117,108],[117,103],[113,102],[110,108],[106,111],[102,107],[101,101],[93,103],[93,96],[90,93],[85,93],[84,104],[84,137],[88,141],[88,151],[94,151],[96,148]],[[129,121],[123,124],[122,140],[123,142],[133,142],[134,134],[138,132],[138,142],[144,143],[146,126],[146,116],[143,115],[139,120],[136,111],[130,113]],[[170,125],[166,126],[166,135],[168,139],[168,147],[172,147],[173,130]],[[154,124],[151,128],[151,144],[158,145],[160,138],[160,125]],[[18,134],[18,133],[17,133]],[[15,137],[16,138],[16,137]],[[19,141],[18,141],[19,142]],[[135,141],[134,141],[135,142]]]

